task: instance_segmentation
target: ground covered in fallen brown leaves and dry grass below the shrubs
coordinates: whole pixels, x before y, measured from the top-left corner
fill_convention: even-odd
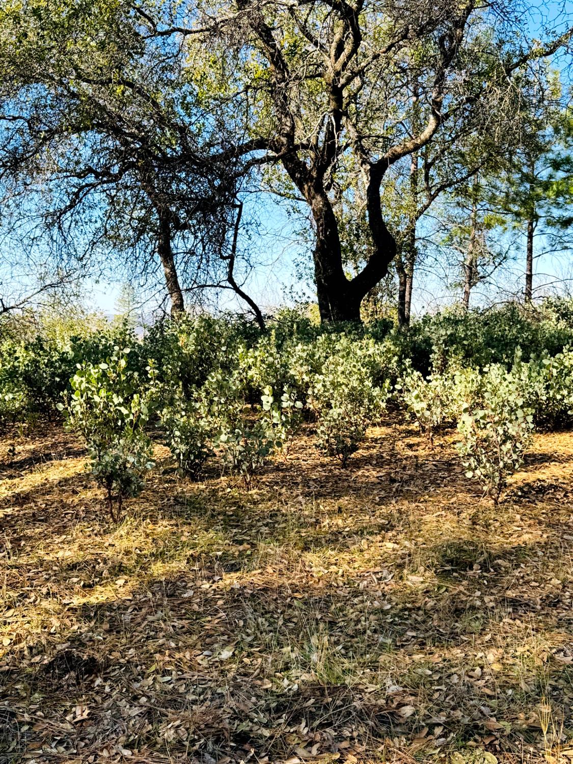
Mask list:
[[[303,435],[248,492],[156,447],[114,526],[72,435],[6,436],[0,762],[569,761],[573,434],[496,510],[453,439]]]

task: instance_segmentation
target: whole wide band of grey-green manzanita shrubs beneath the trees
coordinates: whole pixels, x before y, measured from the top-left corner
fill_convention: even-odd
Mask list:
[[[57,407],[86,440],[118,516],[151,467],[147,430],[164,435],[180,474],[196,479],[219,463],[250,485],[302,426],[347,466],[396,384],[395,400],[430,440],[458,422],[466,471],[499,500],[533,422],[573,422],[572,316],[573,302],[546,301],[447,309],[407,331],[319,326],[296,311],[268,331],[207,315],[157,322],[141,337],[101,317],[76,334],[74,322],[32,322],[21,335],[0,325],[0,423],[42,416],[63,393]]]

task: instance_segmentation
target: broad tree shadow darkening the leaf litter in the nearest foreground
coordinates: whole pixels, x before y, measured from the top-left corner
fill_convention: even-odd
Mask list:
[[[297,749],[359,753],[387,736],[422,751],[455,736],[516,753],[539,742],[543,698],[571,725],[570,635],[556,643],[557,614],[539,588],[507,597],[539,551],[453,539],[429,549],[435,579],[413,587],[398,570],[326,584],[179,571],[92,610],[70,606],[77,628],[66,643],[6,672],[3,697],[18,724],[22,689],[46,698],[50,724],[22,738],[28,751],[47,746],[46,761],[79,743],[83,755],[123,746],[173,760],[190,749],[196,761],[239,761],[251,750],[278,761]],[[484,607],[488,591],[497,592],[494,607]],[[78,707],[89,707],[85,721]],[[62,750],[52,753],[54,735]]]

